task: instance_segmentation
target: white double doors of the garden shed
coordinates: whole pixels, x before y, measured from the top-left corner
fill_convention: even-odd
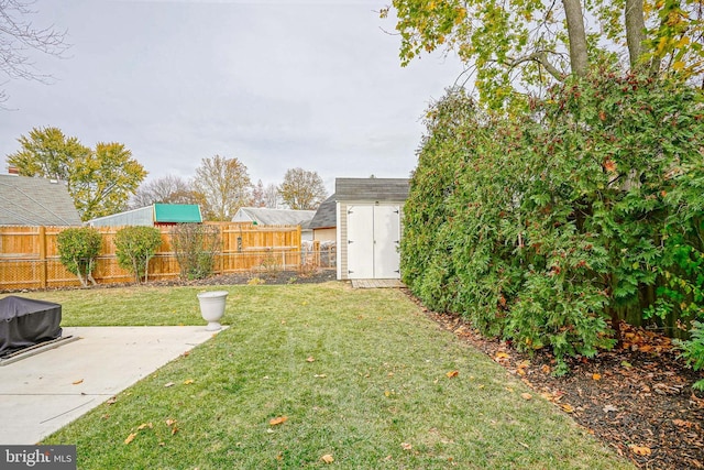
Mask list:
[[[399,278],[399,240],[398,206],[350,206],[348,209],[349,278]]]

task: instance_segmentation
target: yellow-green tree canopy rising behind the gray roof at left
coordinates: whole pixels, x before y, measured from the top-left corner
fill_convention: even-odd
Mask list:
[[[8,163],[22,176],[65,181],[82,220],[124,210],[146,176],[121,143],[99,142],[90,150],[57,128],[34,128],[18,142],[21,149]]]

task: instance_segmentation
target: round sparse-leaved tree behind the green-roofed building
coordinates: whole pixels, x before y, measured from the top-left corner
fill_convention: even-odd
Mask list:
[[[246,166],[238,159],[216,155],[204,159],[196,168],[194,189],[202,197],[206,219],[229,221],[240,207],[249,204],[252,182]]]

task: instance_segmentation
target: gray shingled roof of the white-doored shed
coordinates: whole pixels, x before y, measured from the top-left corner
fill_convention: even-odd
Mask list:
[[[408,178],[337,178],[337,200],[403,203],[408,198]]]

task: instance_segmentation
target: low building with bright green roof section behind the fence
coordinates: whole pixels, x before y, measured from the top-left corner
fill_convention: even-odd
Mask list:
[[[88,220],[90,227],[145,226],[161,227],[176,223],[201,223],[200,206],[197,204],[153,204],[152,206],[98,217]]]

